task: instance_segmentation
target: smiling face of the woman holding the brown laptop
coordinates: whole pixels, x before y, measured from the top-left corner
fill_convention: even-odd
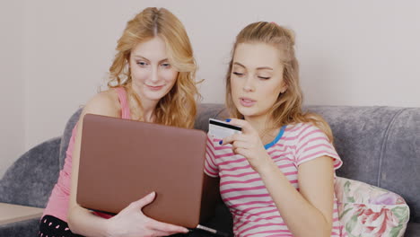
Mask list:
[[[171,91],[178,71],[169,63],[165,42],[160,37],[144,41],[131,50],[129,58],[133,90],[144,105],[157,103]]]

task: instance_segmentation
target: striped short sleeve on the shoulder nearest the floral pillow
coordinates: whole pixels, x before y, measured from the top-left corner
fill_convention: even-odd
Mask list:
[[[305,124],[298,136],[295,162],[297,165],[301,165],[303,162],[308,162],[321,156],[331,157],[334,160],[335,170],[343,163],[334,145],[329,143],[328,136],[319,127]]]

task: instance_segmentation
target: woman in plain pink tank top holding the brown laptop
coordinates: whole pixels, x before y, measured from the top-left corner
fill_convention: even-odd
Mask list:
[[[107,216],[75,202],[83,116],[86,113],[191,128],[196,115],[196,63],[187,32],[166,9],[138,13],[118,40],[109,90],[95,95],[74,127],[65,166],[39,223],[39,236],[165,236],[188,229],[145,216],[154,193]],[[68,225],[67,225],[68,224]]]

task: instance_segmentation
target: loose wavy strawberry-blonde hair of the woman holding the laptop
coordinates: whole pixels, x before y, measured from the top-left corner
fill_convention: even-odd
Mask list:
[[[117,54],[109,67],[109,88],[118,86],[127,89],[128,96],[141,107],[141,99],[131,88],[131,72],[128,60],[131,50],[137,44],[153,37],[161,37],[167,48],[171,66],[179,72],[172,89],[156,105],[155,122],[176,127],[194,127],[197,113],[196,100],[199,97],[195,77],[196,60],[188,39],[187,31],[179,19],[165,8],[149,7],[127,22],[118,40]],[[144,120],[140,111],[139,120]]]

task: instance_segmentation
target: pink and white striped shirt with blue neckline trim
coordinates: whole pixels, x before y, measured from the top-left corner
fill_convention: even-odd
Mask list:
[[[205,171],[209,176],[220,177],[220,192],[232,213],[235,236],[293,236],[258,172],[252,170],[245,157],[232,153],[232,145],[219,145],[219,141],[208,136]],[[276,139],[265,147],[280,171],[298,190],[298,166],[303,162],[327,155],[334,159],[335,169],[342,164],[327,136],[309,123],[282,127]],[[334,198],[331,236],[342,236],[341,232],[337,199]]]

